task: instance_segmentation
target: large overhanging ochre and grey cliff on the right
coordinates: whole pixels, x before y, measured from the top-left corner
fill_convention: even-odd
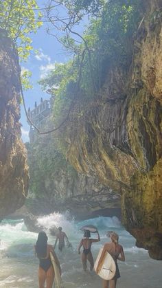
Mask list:
[[[146,4],[132,64],[109,69],[100,98],[80,119],[73,115],[82,107],[73,108],[64,145],[79,173],[121,195],[126,229],[162,260],[162,3]]]

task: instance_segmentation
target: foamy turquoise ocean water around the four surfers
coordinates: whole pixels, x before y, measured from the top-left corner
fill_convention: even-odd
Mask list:
[[[54,244],[55,237],[49,234],[52,225],[62,226],[69,236],[72,248],[65,247],[63,252],[58,251],[62,267],[62,279],[65,288],[100,288],[102,279],[90,272],[82,270],[82,262],[78,254],[78,245],[82,239],[80,228],[87,223],[96,225],[101,241],[93,243],[91,251],[94,259],[100,247],[108,241],[106,232],[114,230],[119,234],[119,243],[124,247],[126,262],[119,262],[121,278],[117,288],[161,288],[162,261],[154,261],[148,252],[135,247],[135,239],[124,230],[117,217],[97,217],[86,221],[76,222],[69,219],[68,214],[49,214],[38,219],[49,236],[48,243]],[[38,234],[27,232],[23,219],[3,221],[0,225],[0,287],[3,288],[38,288],[38,259],[34,256],[34,244]],[[91,234],[93,238],[95,234]],[[89,265],[88,265],[89,268]]]

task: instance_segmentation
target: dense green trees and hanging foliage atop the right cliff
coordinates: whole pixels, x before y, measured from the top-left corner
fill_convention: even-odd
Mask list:
[[[100,1],[101,9],[97,16],[95,12],[99,11],[95,10],[97,6],[94,6],[94,1],[81,1],[80,5],[78,1],[74,2],[73,13],[79,13],[83,9],[87,12],[90,7],[93,8],[89,27],[82,35],[82,43],[79,45],[71,36],[73,32],[62,37],[65,48],[74,54],[73,61],[56,64],[55,69],[40,80],[43,89],[54,89],[54,119],[57,123],[80,94],[86,100],[95,98],[105,80],[108,67],[115,63],[125,67],[130,65],[132,36],[142,14],[140,0]],[[67,3],[70,5],[71,1]]]

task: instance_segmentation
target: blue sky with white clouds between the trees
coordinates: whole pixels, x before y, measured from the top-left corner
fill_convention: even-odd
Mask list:
[[[38,1],[40,8],[42,8],[44,1]],[[86,21],[87,23],[87,21]],[[82,32],[84,24],[77,27],[77,32]],[[25,106],[28,109],[34,108],[35,101],[37,104],[40,103],[40,98],[43,100],[49,98],[49,94],[41,91],[40,86],[38,85],[38,80],[43,76],[47,75],[51,69],[54,69],[54,65],[56,62],[65,63],[69,56],[65,52],[60,45],[60,43],[56,40],[54,36],[50,36],[46,32],[46,25],[40,27],[36,34],[32,34],[32,45],[34,49],[38,50],[39,54],[34,54],[34,52],[30,55],[27,60],[27,63],[21,64],[21,69],[28,69],[32,72],[31,82],[33,85],[33,89],[29,89],[27,91],[23,91],[25,98]],[[28,132],[30,130],[30,126],[27,124],[25,111],[23,108],[23,104],[21,105],[21,124],[22,126],[22,139],[23,142],[28,142]]]

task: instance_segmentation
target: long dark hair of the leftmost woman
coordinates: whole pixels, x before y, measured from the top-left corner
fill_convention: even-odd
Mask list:
[[[45,258],[47,256],[47,240],[46,233],[44,231],[39,232],[36,241],[36,254],[38,258]]]

